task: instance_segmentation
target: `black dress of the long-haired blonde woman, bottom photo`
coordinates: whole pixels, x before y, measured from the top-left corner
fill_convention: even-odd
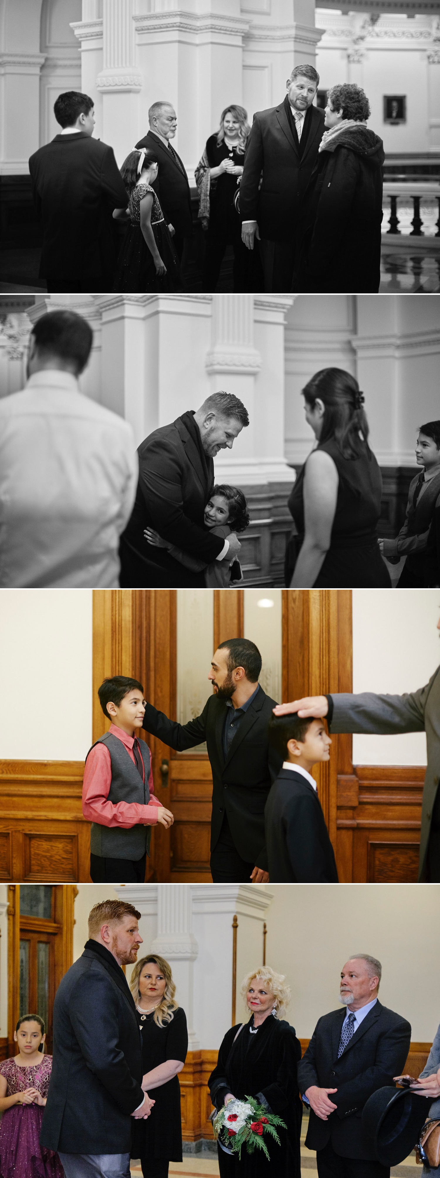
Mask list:
[[[142,1034],[142,1073],[152,1072],[153,1067],[165,1064],[167,1059],[181,1059],[185,1063],[188,1051],[188,1032],[186,1014],[181,1006],[174,1011],[171,1023],[159,1027],[154,1014],[142,1015],[138,1011],[139,1026]],[[148,1120],[135,1120],[132,1134],[132,1158],[140,1158],[142,1173],[167,1173],[168,1162],[182,1160],[182,1130],[180,1117],[180,1085],[178,1076],[159,1088],[152,1088],[149,1096],[155,1100]],[[154,1159],[162,1159],[164,1171],[154,1169]],[[148,1169],[151,1165],[151,1169]]]

